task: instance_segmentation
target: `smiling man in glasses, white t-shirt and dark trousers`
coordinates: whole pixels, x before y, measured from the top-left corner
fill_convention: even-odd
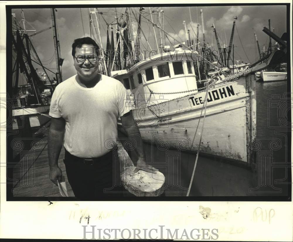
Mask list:
[[[118,116],[127,136],[137,144],[135,172],[139,169],[152,173],[157,171],[146,165],[139,136],[133,134],[133,131],[139,131],[131,107],[125,105],[125,87],[120,81],[98,72],[98,50],[96,42],[89,37],[74,40],[72,56],[77,75],[56,87],[50,105],[49,177],[56,185],[57,179],[61,181],[58,157],[64,136],[64,163],[76,197],[113,196],[113,193],[105,193],[104,189],[113,186],[113,173],[120,172],[113,172],[113,151],[109,152],[105,142],[117,138]]]

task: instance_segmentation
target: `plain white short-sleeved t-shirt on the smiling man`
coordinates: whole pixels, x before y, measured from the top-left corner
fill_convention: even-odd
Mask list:
[[[64,147],[69,153],[100,157],[109,152],[105,142],[116,143],[117,119],[132,109],[130,98],[120,81],[106,75],[92,88],[82,87],[76,78],[57,85],[49,115],[65,119]]]

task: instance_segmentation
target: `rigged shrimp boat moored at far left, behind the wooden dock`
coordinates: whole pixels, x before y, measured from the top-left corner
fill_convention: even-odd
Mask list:
[[[59,41],[57,40],[58,34],[54,9],[51,9],[51,13],[53,26],[50,28],[53,28],[55,33],[55,51],[60,53],[59,45],[56,44]],[[13,99],[11,100],[11,115],[13,119],[11,119],[11,128],[21,132],[25,130],[27,135],[30,136],[31,128],[34,130],[38,129],[50,120],[50,117],[48,116],[50,99],[55,86],[62,81],[61,65],[63,59],[58,55],[58,61],[56,59],[58,72],[54,73],[54,78],[49,78],[47,72],[50,71],[50,69],[42,64],[38,53],[32,44],[31,38],[50,28],[39,32],[36,32],[36,30],[28,30],[26,28],[27,22],[24,18],[23,9],[21,11],[21,16],[22,23],[18,22],[16,15],[12,13],[12,54],[15,61],[12,70]],[[28,25],[30,24],[28,23]],[[31,27],[32,26],[30,25],[30,28]],[[31,32],[35,33],[31,34]],[[42,71],[36,71],[34,66],[36,65],[35,63],[41,67],[39,70]],[[21,76],[22,79],[26,80],[26,83],[18,85]]]

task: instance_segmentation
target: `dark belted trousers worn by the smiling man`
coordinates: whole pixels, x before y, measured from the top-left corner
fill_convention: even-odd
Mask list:
[[[68,182],[77,198],[119,197],[124,190],[121,185],[120,168],[113,151],[97,158],[93,164],[82,162],[65,149],[64,164]],[[124,190],[125,191],[125,190]]]

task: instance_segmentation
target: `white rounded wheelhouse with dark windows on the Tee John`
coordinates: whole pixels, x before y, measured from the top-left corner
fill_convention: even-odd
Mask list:
[[[165,52],[111,74],[136,100],[136,106],[140,101],[153,105],[197,92],[193,65],[197,57],[190,50]]]

